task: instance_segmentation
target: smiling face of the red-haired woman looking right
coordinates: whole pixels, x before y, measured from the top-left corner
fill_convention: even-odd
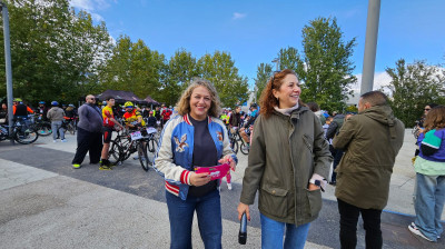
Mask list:
[[[301,89],[299,88],[299,82],[297,77],[294,74],[287,74],[283,79],[281,87],[279,90],[273,90],[274,97],[278,98],[278,108],[291,108],[298,103],[299,94]]]

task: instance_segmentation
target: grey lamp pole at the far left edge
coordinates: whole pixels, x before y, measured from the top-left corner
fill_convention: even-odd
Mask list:
[[[8,99],[8,123],[9,135],[12,135],[12,68],[11,68],[11,46],[9,43],[9,13],[6,3],[0,1],[1,14],[3,17],[3,36],[4,36],[4,64],[7,72],[7,99]],[[11,139],[13,143],[13,139]]]

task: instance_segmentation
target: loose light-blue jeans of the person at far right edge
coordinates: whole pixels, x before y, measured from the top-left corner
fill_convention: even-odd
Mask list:
[[[444,229],[441,216],[445,202],[445,176],[425,176],[416,173],[416,220],[414,221],[424,236],[436,241]]]

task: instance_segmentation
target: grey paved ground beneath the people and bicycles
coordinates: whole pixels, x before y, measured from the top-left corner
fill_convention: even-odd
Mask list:
[[[33,145],[0,143],[0,248],[168,248],[168,210],[162,178],[144,171],[138,160],[128,159],[113,170],[89,165],[70,165],[76,137],[52,142],[40,137]],[[413,236],[407,226],[414,220],[412,193],[415,172],[411,158],[415,150],[411,130],[397,157],[388,206],[382,216],[384,248],[445,248]],[[233,190],[221,186],[222,247],[260,248],[259,212],[251,207],[246,246],[238,245],[236,207],[247,157],[238,152],[233,172]],[[339,248],[339,217],[335,187],[324,193],[319,218],[312,223],[306,248]],[[444,215],[443,215],[444,219]],[[365,248],[363,223],[358,225],[357,248]],[[204,248],[194,222],[194,248]]]

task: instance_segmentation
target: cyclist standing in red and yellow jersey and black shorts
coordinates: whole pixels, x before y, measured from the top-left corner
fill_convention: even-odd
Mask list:
[[[102,118],[103,118],[103,147],[100,160],[101,170],[109,170],[111,169],[111,163],[108,160],[108,152],[110,149],[110,141],[112,137],[112,131],[115,130],[115,126],[118,126],[119,129],[123,129],[122,124],[116,121],[115,116],[112,113],[112,107],[115,106],[115,98],[107,97],[106,98],[107,106],[102,109]]]

